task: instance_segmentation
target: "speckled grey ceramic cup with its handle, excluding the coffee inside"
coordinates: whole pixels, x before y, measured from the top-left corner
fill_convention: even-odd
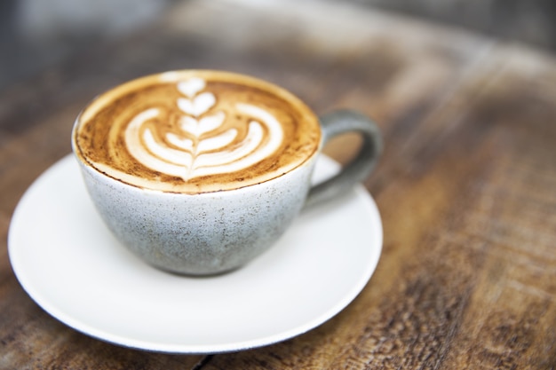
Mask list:
[[[362,114],[321,118],[321,143],[302,165],[271,180],[211,193],[164,193],[123,183],[73,148],[91,200],[107,227],[148,264],[167,272],[210,275],[249,263],[270,248],[306,206],[337,198],[369,176],[382,149],[377,125]],[[322,147],[358,132],[360,152],[337,176],[311,186]],[[75,135],[74,135],[75,137]]]

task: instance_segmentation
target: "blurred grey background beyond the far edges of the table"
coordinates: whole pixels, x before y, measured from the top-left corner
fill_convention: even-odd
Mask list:
[[[0,90],[91,44],[144,28],[188,0],[2,0]],[[295,6],[297,0],[284,0]],[[554,0],[303,0],[351,3],[449,24],[496,39],[556,51]],[[252,0],[255,4],[258,1]]]

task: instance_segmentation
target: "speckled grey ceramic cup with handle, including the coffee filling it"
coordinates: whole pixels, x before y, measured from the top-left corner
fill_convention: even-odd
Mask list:
[[[337,176],[311,185],[322,147],[361,134]],[[186,70],[123,83],[77,117],[72,147],[107,227],[167,272],[229,272],[270,248],[304,207],[346,193],[381,152],[377,125],[317,118],[289,91],[246,75]]]

